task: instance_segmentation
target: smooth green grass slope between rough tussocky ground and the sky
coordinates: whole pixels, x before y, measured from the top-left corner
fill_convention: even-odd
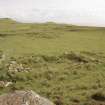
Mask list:
[[[0,49],[9,55],[105,52],[104,28],[54,23],[20,24],[9,20],[0,23],[0,34]]]

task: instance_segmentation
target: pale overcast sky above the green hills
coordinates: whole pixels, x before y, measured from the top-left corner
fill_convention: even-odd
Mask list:
[[[105,0],[0,0],[0,18],[105,27]]]

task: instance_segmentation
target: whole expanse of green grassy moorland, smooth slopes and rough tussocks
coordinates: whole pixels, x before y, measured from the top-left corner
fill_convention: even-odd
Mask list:
[[[0,94],[32,89],[63,105],[105,101],[105,28],[0,20]],[[31,70],[9,72],[16,61]]]

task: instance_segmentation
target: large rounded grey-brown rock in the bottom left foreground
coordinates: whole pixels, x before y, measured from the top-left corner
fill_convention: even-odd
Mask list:
[[[34,91],[15,91],[0,96],[0,105],[54,105]]]

